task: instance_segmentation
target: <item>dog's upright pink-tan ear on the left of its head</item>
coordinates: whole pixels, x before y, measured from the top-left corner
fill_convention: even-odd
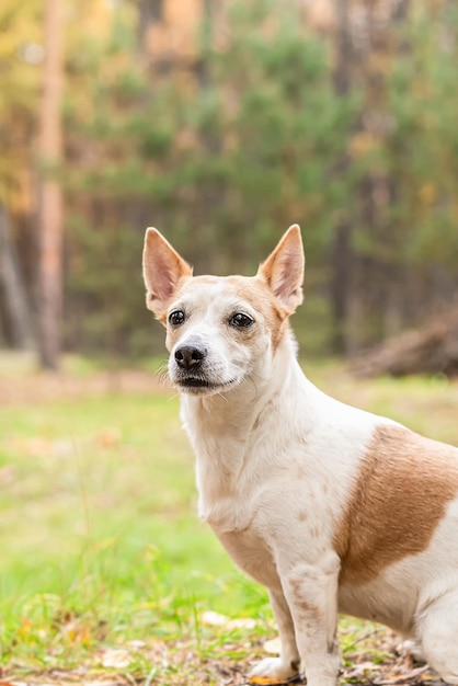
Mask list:
[[[192,267],[157,229],[147,229],[144,247],[144,279],[147,308],[163,319],[182,278],[193,275]]]

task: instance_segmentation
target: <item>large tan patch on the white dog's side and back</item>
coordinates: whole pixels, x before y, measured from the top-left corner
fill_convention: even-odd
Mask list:
[[[341,583],[360,584],[423,552],[458,495],[458,449],[400,426],[379,426],[334,537]]]

